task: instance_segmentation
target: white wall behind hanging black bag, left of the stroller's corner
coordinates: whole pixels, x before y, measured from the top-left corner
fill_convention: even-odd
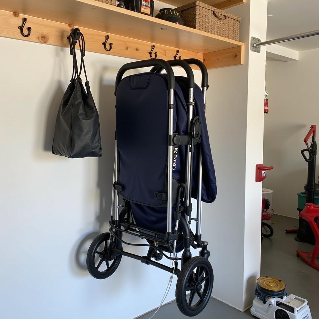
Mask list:
[[[169,273],[126,257],[105,280],[85,269],[85,247],[95,232],[108,230],[115,75],[131,60],[86,53],[103,156],[67,159],[51,147],[72,71],[69,50],[5,38],[0,47],[1,318],[129,319],[157,307]],[[195,76],[200,83],[199,71]],[[145,249],[127,250],[145,255]],[[167,301],[175,298],[175,281]]]

